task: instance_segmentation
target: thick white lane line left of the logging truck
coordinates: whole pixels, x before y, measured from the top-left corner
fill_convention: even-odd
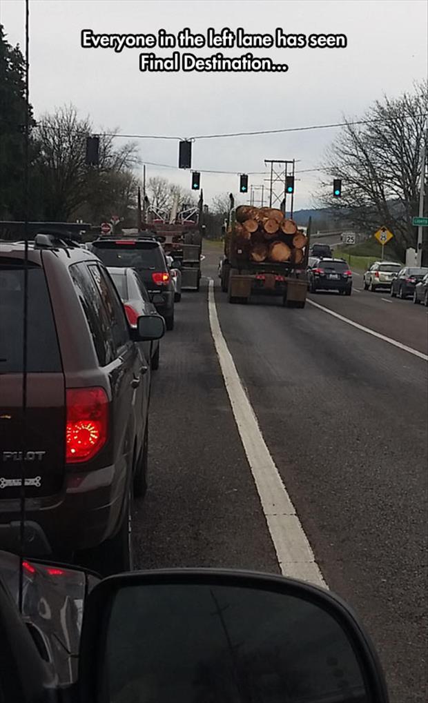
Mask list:
[[[225,337],[222,335],[215,307],[212,278],[208,281],[208,313],[211,335],[213,335],[225,387],[256,484],[267,528],[277,553],[279,568],[284,576],[310,581],[317,586],[327,588],[294,505],[267,449],[256,414],[241,383]]]

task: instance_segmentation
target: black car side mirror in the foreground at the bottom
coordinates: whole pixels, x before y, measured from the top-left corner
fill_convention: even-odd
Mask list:
[[[387,703],[348,606],[303,581],[172,569],[104,579],[84,612],[82,703]]]

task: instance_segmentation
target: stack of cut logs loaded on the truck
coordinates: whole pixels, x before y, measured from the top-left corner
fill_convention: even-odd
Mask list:
[[[253,262],[301,264],[308,241],[281,210],[251,205],[237,207],[234,236],[237,251]]]

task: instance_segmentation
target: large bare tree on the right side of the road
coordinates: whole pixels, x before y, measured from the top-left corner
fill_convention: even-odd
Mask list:
[[[386,96],[367,112],[365,124],[346,127],[327,154],[329,176],[342,179],[340,200],[330,193],[325,205],[363,230],[387,226],[397,252],[415,247],[412,217],[417,214],[421,156],[427,120],[427,83],[396,99]]]

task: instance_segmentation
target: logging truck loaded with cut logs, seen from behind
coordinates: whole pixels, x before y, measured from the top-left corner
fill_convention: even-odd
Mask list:
[[[287,307],[305,307],[309,231],[271,207],[241,205],[229,213],[225,255],[220,267],[223,292],[231,303],[251,295],[279,296]]]

